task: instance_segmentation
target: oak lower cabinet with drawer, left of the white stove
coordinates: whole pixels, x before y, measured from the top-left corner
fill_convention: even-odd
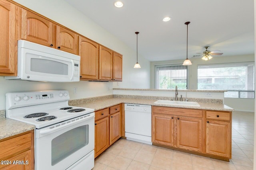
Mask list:
[[[0,140],[1,170],[34,170],[34,130]]]

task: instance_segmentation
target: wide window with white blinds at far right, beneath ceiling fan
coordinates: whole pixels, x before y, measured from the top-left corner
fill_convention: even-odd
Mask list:
[[[228,90],[225,98],[254,98],[254,62],[198,65],[198,89]]]

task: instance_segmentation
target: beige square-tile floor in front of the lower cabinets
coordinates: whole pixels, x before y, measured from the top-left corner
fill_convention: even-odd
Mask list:
[[[225,162],[119,139],[95,160],[93,170],[252,170],[254,113],[232,114],[232,160]]]

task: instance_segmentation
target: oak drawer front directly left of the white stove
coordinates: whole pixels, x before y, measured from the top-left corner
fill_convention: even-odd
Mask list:
[[[26,150],[32,145],[31,133],[0,142],[0,158]]]

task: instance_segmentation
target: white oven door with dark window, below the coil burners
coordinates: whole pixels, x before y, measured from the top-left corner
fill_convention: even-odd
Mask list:
[[[88,116],[89,115],[89,116]],[[94,113],[89,113],[52,126],[36,129],[36,170],[65,170],[73,164],[84,164],[94,150]],[[82,159],[81,159],[82,158]],[[88,156],[92,164],[94,156]]]

